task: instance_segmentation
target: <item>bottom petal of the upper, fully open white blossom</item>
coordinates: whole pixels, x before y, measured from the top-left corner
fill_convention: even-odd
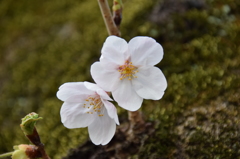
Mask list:
[[[131,81],[127,79],[122,80],[118,89],[112,92],[112,96],[119,106],[129,111],[138,110],[143,102],[143,98],[135,92]]]

